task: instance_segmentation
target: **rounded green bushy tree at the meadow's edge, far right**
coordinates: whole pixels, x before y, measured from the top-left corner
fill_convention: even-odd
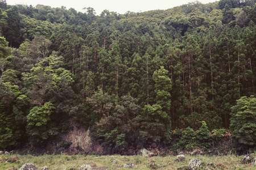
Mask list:
[[[231,108],[230,131],[238,151],[255,150],[256,98],[243,96]]]

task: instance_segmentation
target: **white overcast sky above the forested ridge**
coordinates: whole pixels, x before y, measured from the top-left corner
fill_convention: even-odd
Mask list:
[[[215,2],[217,0],[198,0],[201,3]],[[38,4],[51,7],[65,6],[67,9],[75,8],[77,11],[83,11],[84,7],[92,7],[97,15],[100,15],[103,10],[114,11],[119,14],[125,14],[127,11],[144,12],[150,10],[166,10],[175,6],[194,2],[193,0],[6,0],[7,5],[23,4],[36,6]]]

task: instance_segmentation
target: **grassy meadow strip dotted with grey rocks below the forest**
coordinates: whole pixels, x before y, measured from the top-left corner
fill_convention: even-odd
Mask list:
[[[55,169],[79,169],[82,164],[89,164],[93,169],[128,169],[123,168],[126,163],[133,163],[135,169],[185,169],[188,167],[190,159],[203,160],[203,168],[207,169],[207,164],[212,163],[209,169],[256,169],[250,163],[243,164],[242,156],[186,156],[185,161],[176,162],[176,156],[155,156],[143,158],[142,156],[120,156],[120,155],[1,155],[0,169],[19,169],[25,163],[33,163],[41,169],[47,166],[50,170]],[[115,160],[115,161],[113,161]],[[113,164],[115,162],[115,164]],[[154,162],[154,167],[151,166]],[[105,168],[100,168],[105,167]]]

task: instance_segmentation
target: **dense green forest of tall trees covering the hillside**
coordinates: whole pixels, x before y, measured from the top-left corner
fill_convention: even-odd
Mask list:
[[[77,124],[113,153],[148,139],[207,147],[212,131],[255,150],[255,0],[83,9],[0,0],[0,148]]]

